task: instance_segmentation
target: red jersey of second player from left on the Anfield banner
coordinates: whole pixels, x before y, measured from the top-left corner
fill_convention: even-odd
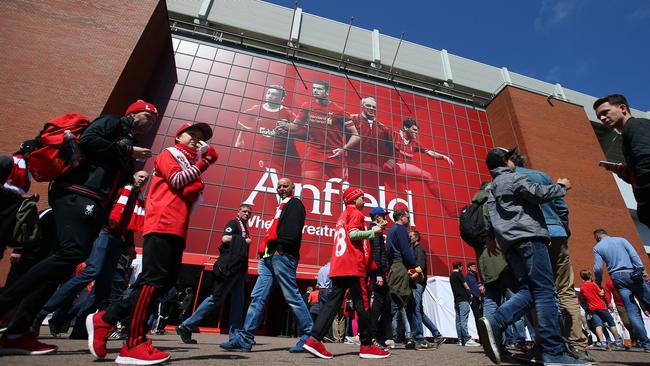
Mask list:
[[[332,161],[332,150],[345,145],[345,126],[352,124],[343,108],[334,102],[321,105],[313,99],[300,107],[298,121],[309,130],[305,149],[307,159],[321,162]]]

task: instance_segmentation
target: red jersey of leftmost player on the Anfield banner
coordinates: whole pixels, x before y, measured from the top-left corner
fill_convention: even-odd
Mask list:
[[[264,105],[254,105],[240,115],[240,122],[253,130],[244,130],[244,141],[247,148],[273,153],[274,155],[297,156],[296,144],[293,139],[275,135],[278,121],[289,123],[295,116],[285,106],[278,109],[267,109]],[[241,126],[240,126],[241,127]]]

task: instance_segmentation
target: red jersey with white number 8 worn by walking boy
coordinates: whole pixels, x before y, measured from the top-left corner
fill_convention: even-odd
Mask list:
[[[334,229],[334,246],[330,277],[366,276],[366,256],[363,240],[351,241],[351,230],[365,230],[365,217],[354,205],[348,205],[341,213]]]

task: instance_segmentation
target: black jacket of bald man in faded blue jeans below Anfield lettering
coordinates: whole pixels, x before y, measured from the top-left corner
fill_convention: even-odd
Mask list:
[[[270,253],[281,249],[285,254],[300,257],[302,228],[305,226],[307,212],[305,206],[294,197],[284,205],[278,222],[278,239],[269,241],[267,247]]]

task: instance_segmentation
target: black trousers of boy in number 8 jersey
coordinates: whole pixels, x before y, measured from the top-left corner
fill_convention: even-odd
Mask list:
[[[320,314],[316,318],[316,323],[312,329],[311,336],[319,341],[322,341],[327,331],[332,326],[334,317],[341,308],[345,291],[350,291],[350,297],[354,304],[354,309],[357,311],[359,318],[359,340],[364,346],[372,344],[372,338],[375,331],[370,321],[370,312],[366,309],[365,303],[368,301],[367,292],[364,287],[366,286],[365,277],[333,277],[332,290],[329,294],[329,299],[320,309]],[[365,294],[365,295],[364,295]],[[364,299],[365,296],[365,299]]]

